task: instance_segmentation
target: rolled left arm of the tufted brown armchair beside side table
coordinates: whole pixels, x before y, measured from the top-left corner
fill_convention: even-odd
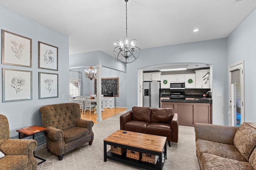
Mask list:
[[[47,130],[44,131],[44,135],[52,141],[63,141],[64,143],[64,135],[63,131],[60,129],[56,129],[52,126],[47,126]]]

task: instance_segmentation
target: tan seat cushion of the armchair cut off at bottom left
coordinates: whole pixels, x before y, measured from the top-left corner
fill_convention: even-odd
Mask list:
[[[0,159],[1,170],[22,170],[28,164],[26,155],[5,155]]]

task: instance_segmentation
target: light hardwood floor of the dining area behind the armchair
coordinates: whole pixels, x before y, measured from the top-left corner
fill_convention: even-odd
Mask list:
[[[102,111],[101,112],[101,117],[102,119],[107,119],[108,117],[111,117],[113,115],[116,115],[122,111],[125,111],[126,108],[120,108],[120,107],[115,107],[113,109],[108,109],[108,108],[104,108],[105,111]],[[82,119],[88,119],[88,120],[92,120],[94,123],[98,123],[96,121],[96,118],[97,118],[97,114],[94,114],[93,113],[94,111],[91,111],[91,114],[89,113],[88,110],[86,110],[85,113],[82,113],[81,111],[81,118]]]

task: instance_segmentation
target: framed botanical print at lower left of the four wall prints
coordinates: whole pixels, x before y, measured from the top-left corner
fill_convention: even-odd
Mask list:
[[[32,100],[32,71],[2,68],[2,100]]]

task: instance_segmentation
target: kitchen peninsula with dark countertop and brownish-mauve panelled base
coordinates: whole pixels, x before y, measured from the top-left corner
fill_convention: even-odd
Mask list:
[[[174,113],[178,113],[179,125],[194,126],[195,123],[212,123],[211,98],[162,99],[161,104],[162,108],[171,107]]]

